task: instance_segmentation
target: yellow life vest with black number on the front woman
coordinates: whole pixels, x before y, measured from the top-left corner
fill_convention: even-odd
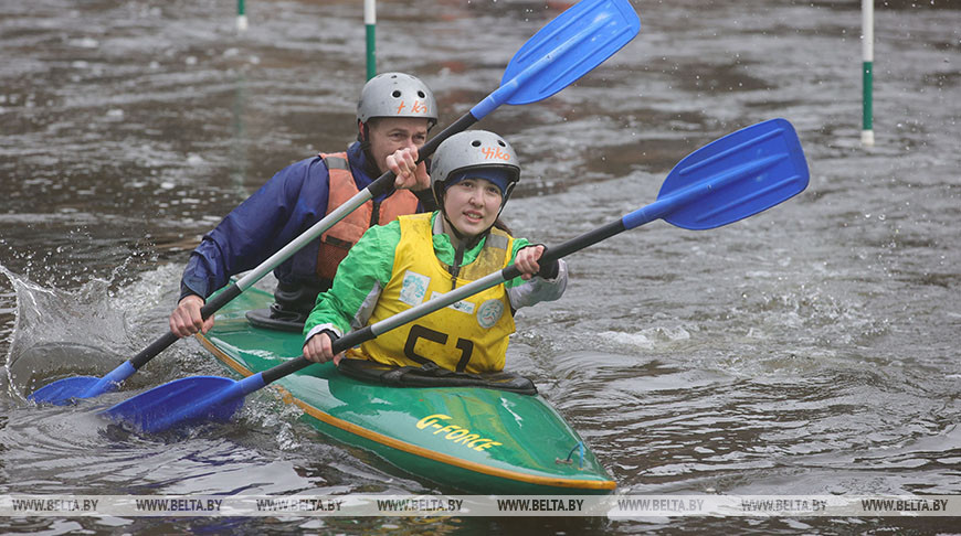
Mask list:
[[[370,315],[371,324],[510,264],[514,238],[494,228],[477,259],[463,266],[455,278],[434,254],[431,214],[399,219],[401,239],[393,272]],[[347,355],[388,365],[420,366],[431,361],[450,371],[496,372],[504,369],[514,329],[507,290],[500,283],[383,333]]]

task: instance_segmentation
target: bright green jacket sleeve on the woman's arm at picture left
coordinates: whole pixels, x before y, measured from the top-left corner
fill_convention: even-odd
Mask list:
[[[336,325],[341,334],[351,331],[350,323],[368,296],[379,293],[390,280],[400,237],[397,219],[367,229],[337,267],[330,290],[317,296],[317,303],[304,324],[305,336],[324,324]]]

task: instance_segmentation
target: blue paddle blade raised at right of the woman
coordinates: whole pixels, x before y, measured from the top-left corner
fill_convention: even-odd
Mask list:
[[[807,187],[807,161],[794,127],[771,119],[685,157],[661,186],[665,222],[709,229],[746,218]],[[653,206],[653,205],[652,205]]]

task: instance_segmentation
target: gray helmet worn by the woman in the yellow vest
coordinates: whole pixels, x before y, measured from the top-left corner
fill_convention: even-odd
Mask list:
[[[452,175],[461,171],[506,171],[505,184],[498,184],[504,193],[504,203],[520,179],[517,153],[504,138],[487,130],[467,130],[444,140],[431,160],[431,190],[434,200],[443,208],[444,191]]]

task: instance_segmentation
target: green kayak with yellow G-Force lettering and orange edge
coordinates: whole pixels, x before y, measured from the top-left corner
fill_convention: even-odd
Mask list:
[[[250,376],[300,355],[299,333],[257,328],[245,312],[273,296],[250,289],[199,335],[232,371]],[[389,387],[311,365],[272,387],[303,419],[345,444],[441,486],[474,494],[608,494],[616,483],[539,395],[485,387]]]

